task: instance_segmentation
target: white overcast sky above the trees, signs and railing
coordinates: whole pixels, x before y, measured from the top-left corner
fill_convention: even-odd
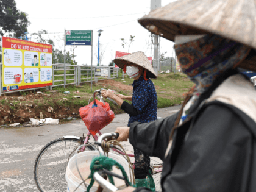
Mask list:
[[[162,0],[162,6],[172,1],[174,0]],[[97,53],[95,46],[98,43],[97,31],[102,29],[104,32],[100,37],[100,43],[105,46],[103,65],[108,65],[110,60],[115,58],[115,51],[127,52],[128,48],[122,48],[120,38],[129,38],[130,35],[135,35],[135,41],[130,46],[129,52],[143,51],[148,57],[151,56],[151,49],[146,43],[150,40],[150,33],[137,21],[138,18],[149,13],[150,0],[16,0],[16,3],[18,9],[29,15],[31,24],[28,32],[31,34],[45,29],[49,33],[54,33],[44,36],[54,38],[58,49],[64,49],[62,37],[65,28],[66,30],[93,29],[93,51]],[[160,52],[167,51],[167,55],[171,56],[172,46],[171,41],[161,38]],[[66,50],[69,49],[71,46],[66,46]],[[76,61],[79,64],[91,64],[90,46],[79,46],[74,54],[77,55]],[[93,55],[93,65],[96,63],[97,58]]]

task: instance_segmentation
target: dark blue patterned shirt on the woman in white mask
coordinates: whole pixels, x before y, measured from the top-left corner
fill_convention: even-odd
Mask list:
[[[157,91],[153,82],[150,79],[144,80],[142,75],[134,80],[132,86],[132,106],[141,113],[137,116],[130,115],[128,127],[135,121],[146,123],[157,120]]]

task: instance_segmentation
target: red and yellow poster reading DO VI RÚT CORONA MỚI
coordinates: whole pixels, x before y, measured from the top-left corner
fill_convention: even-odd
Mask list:
[[[2,37],[4,91],[52,85],[52,46]]]

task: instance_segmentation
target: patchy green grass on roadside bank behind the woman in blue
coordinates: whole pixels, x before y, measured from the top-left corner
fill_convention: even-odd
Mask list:
[[[117,82],[122,82],[124,85],[132,85],[133,79],[130,79],[129,77],[124,77],[124,80],[122,80],[121,73],[119,73],[119,78],[113,79]],[[154,82],[155,88],[157,90],[157,96],[158,96],[158,108],[163,107],[170,107],[173,105],[179,105],[182,103],[184,97],[183,94],[187,93],[187,91],[190,90],[191,87],[193,87],[193,82],[191,82],[185,74],[182,73],[168,73],[168,74],[159,74],[157,79],[151,79],[152,82]],[[100,88],[103,88],[101,85],[94,84],[93,83],[93,91],[98,90]],[[105,85],[106,89],[110,88],[112,90],[116,90],[115,86],[111,85]],[[72,95],[79,95],[81,96],[81,99],[73,98],[69,94],[63,94],[63,97],[69,99],[69,101],[59,101],[59,102],[48,102],[45,103],[46,105],[50,105],[51,107],[55,107],[55,105],[63,105],[63,106],[77,106],[77,107],[83,107],[88,104],[88,99],[92,96],[91,93],[91,87],[90,82],[82,85],[81,87],[75,87],[74,85],[68,85],[65,88],[63,87],[54,87],[53,90],[59,91],[59,93],[63,93],[64,91],[69,91]],[[77,93],[77,91],[79,93]],[[48,92],[49,93],[49,92]],[[132,94],[132,91],[125,91],[125,90],[118,90],[119,94],[123,95],[130,95]],[[55,100],[56,97],[52,97],[50,100]],[[93,101],[93,99],[90,99],[90,102]],[[113,110],[117,110],[119,108],[116,106],[113,102],[108,101],[110,104],[110,107],[113,108]],[[119,110],[118,110],[119,111]]]

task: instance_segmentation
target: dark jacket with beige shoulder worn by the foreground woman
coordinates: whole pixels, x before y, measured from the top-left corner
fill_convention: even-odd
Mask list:
[[[222,86],[222,82],[229,83]],[[234,90],[232,86],[241,90],[230,94],[229,88]],[[223,89],[227,91],[221,95]],[[251,97],[240,98],[244,90],[249,90]],[[246,98],[246,93],[243,95]],[[197,100],[186,121],[175,130],[167,153],[169,135],[178,113],[151,123],[132,123],[130,143],[163,160],[163,191],[256,191],[254,98],[256,91],[249,80],[232,71],[219,77]],[[248,112],[250,107],[252,111]],[[137,188],[135,191],[149,190]]]

